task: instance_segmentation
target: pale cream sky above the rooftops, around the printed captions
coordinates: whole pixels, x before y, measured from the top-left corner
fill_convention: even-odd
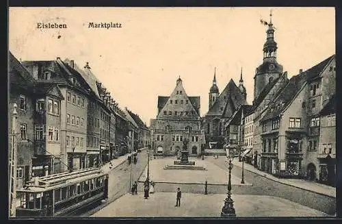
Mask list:
[[[214,68],[220,92],[241,68],[252,103],[255,69],[263,62],[272,10],[277,60],[288,77],[335,53],[334,8],[10,8],[9,49],[18,60],[86,62],[111,92],[150,125],[158,96],[169,96],[181,76],[189,96],[208,111]],[[89,23],[121,28],[89,28]],[[38,29],[64,23],[66,29]],[[57,38],[60,36],[60,38]]]

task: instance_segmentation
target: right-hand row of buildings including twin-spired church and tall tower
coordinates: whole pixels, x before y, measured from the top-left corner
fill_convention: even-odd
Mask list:
[[[276,60],[270,21],[263,63],[246,102],[242,71],[220,94],[214,75],[209,111],[202,118],[206,147],[233,148],[261,171],[334,185],[336,173],[336,60],[326,58],[288,79]]]

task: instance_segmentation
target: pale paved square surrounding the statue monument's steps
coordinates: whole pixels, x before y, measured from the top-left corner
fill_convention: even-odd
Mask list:
[[[221,169],[209,160],[202,160],[198,158],[189,158],[195,161],[196,166],[204,166],[207,170],[164,170],[167,164],[173,164],[174,158],[158,158],[150,159],[150,179],[154,182],[169,182],[169,183],[193,183],[203,184],[207,180],[208,184],[227,184],[228,182],[228,168]],[[228,164],[227,164],[228,167]],[[147,167],[142,173],[139,181],[146,180]],[[240,177],[232,175],[231,183],[233,185],[241,185]],[[251,185],[245,181],[244,185]]]

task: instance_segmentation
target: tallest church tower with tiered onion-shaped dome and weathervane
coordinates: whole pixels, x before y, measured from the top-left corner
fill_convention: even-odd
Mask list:
[[[278,49],[276,41],[274,41],[274,26],[272,24],[272,11],[269,14],[269,23],[261,21],[267,25],[266,42],[263,45],[263,64],[261,64],[254,76],[254,99],[256,99],[263,88],[274,79],[280,77],[282,73],[282,65],[276,60],[276,50]]]

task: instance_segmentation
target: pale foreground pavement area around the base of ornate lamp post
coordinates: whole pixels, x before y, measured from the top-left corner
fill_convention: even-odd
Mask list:
[[[93,217],[219,217],[226,195],[182,194],[181,207],[174,207],[176,192],[124,195]],[[329,216],[286,199],[260,195],[232,195],[237,217]]]

